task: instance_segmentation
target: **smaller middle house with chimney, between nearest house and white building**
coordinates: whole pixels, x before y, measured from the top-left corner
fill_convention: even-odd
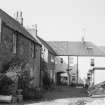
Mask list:
[[[46,71],[47,71],[47,73],[50,77],[50,80],[55,82],[55,57],[56,57],[56,52],[49,46],[49,44],[46,41],[44,41],[42,38],[37,36],[37,29],[30,28],[30,29],[27,29],[27,30],[41,44],[41,46],[42,46],[41,58],[47,64]],[[42,75],[43,75],[43,72],[42,72]]]

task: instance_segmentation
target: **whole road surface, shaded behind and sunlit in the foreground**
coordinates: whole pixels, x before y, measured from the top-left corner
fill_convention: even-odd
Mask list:
[[[16,105],[105,105],[105,99],[87,97],[83,88],[63,87],[47,91],[39,102],[31,101]]]

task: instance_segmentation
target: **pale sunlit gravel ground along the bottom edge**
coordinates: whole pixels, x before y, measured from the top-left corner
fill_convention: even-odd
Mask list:
[[[68,98],[57,99],[52,101],[45,101],[39,103],[30,103],[24,105],[105,105],[105,99],[92,99],[92,98]]]

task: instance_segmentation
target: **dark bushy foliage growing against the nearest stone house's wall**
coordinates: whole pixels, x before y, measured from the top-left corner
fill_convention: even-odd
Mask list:
[[[30,77],[30,71],[26,69],[26,65],[28,63],[29,62],[26,58],[14,56],[9,62],[4,64],[2,71],[3,78],[0,79],[0,94],[16,95],[17,89],[22,89],[23,98],[40,98],[40,92],[35,87],[33,87],[32,84],[30,84],[30,82],[33,81],[34,78]],[[12,81],[11,78],[5,75],[6,72],[9,72],[8,70],[10,68],[13,69],[14,67],[21,68],[21,71],[17,72],[18,83],[16,83],[16,81]]]

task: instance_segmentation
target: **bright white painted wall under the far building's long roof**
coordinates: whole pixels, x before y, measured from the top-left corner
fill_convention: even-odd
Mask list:
[[[78,58],[78,69],[79,69],[79,77],[83,81],[87,78],[87,73],[88,70],[91,68],[90,67],[90,59],[93,57],[79,57]],[[68,58],[63,57],[64,62],[68,63]],[[96,67],[105,67],[105,57],[94,57],[95,59],[95,66]],[[76,57],[74,57],[73,64],[76,64]],[[62,67],[62,66],[60,66]],[[99,83],[105,81],[105,71],[102,70],[97,70],[95,72],[95,83]]]

